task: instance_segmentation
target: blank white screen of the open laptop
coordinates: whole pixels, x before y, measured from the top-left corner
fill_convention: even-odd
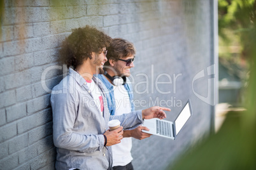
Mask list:
[[[188,118],[191,116],[189,103],[185,105],[183,110],[181,111],[180,115],[175,120],[175,129],[176,129],[176,135],[180,132],[180,129],[184,126],[184,124],[187,122]]]

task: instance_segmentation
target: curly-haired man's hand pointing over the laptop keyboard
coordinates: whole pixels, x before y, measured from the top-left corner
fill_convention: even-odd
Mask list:
[[[171,111],[171,109],[166,107],[150,107],[142,110],[142,118],[143,119],[152,119],[152,118],[159,118],[164,119],[166,118],[166,113],[163,110]]]

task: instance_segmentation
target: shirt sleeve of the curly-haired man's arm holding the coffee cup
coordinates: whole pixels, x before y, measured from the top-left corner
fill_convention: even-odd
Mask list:
[[[53,112],[53,142],[55,147],[78,152],[96,152],[104,147],[103,134],[76,133],[73,129],[78,114],[79,102],[72,93],[51,95]]]

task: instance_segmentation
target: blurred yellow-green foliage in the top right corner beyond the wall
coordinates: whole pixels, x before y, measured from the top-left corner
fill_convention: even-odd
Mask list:
[[[255,0],[218,0],[218,32],[225,42],[233,42],[234,36],[227,36],[227,31],[239,37],[242,48],[241,56],[248,58],[255,41],[256,24]]]

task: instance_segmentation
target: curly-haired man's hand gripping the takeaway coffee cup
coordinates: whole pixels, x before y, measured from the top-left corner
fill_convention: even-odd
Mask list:
[[[110,130],[106,131],[104,133],[104,135],[107,138],[106,146],[110,147],[112,145],[120,143],[123,138],[122,134],[124,133],[124,131],[122,131],[122,130],[123,130],[123,127],[120,126],[119,128],[117,128],[113,131],[110,131]]]

